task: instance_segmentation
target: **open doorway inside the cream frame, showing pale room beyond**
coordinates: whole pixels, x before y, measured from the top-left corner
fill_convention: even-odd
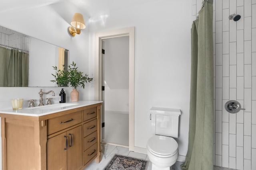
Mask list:
[[[129,37],[102,42],[103,143],[129,146]]]

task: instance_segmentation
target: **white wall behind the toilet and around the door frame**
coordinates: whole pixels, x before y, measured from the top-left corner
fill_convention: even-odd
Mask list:
[[[191,2],[157,0],[90,19],[90,70],[94,71],[94,34],[135,27],[135,147],[150,138],[149,109],[178,108],[179,152],[188,147]],[[97,21],[98,20],[98,21]],[[93,99],[94,96],[90,95]]]

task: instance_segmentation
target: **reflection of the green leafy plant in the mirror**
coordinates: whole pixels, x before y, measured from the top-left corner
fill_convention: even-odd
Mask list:
[[[65,70],[63,65],[63,70],[58,70],[57,66],[52,66],[55,70],[55,74],[52,74],[54,76],[55,80],[51,80],[51,82],[56,82],[58,87],[65,87],[68,86],[68,71]]]

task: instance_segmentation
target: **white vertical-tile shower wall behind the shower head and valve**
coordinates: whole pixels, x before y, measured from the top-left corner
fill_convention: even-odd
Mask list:
[[[192,1],[192,19],[202,0]],[[214,0],[214,164],[256,169],[256,0]],[[230,14],[240,14],[237,22]],[[237,100],[245,111],[225,110]]]

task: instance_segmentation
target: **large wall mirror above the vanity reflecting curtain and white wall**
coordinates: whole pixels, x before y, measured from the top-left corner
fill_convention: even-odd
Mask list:
[[[18,33],[11,29],[0,26],[0,86],[29,86],[29,87],[51,87],[57,86],[56,83],[51,82],[54,77],[52,73],[54,70],[52,66],[58,66],[58,69],[62,69],[62,65],[67,69],[68,66],[68,55],[69,51],[56,45],[46,43],[39,39],[29,37],[22,33]],[[4,64],[4,56],[7,52],[2,52],[1,49],[6,49],[12,54],[17,54],[21,63],[27,63],[22,68],[17,64],[12,67],[11,70],[15,71],[16,74],[10,74],[13,71],[6,69],[5,74],[1,74]],[[17,52],[18,51],[18,52]],[[8,54],[8,53],[7,53]],[[21,55],[22,54],[22,55]],[[27,61],[23,61],[26,57],[21,57],[27,54]],[[29,58],[29,60],[28,60]],[[8,61],[10,57],[8,58]],[[26,70],[27,69],[27,70]],[[25,71],[23,71],[25,70]],[[27,72],[26,72],[27,71]],[[23,73],[25,72],[25,73]],[[27,78],[24,74],[28,74]],[[23,75],[17,79],[18,83],[7,83],[9,79],[14,77],[11,75]],[[22,79],[23,77],[23,79]],[[25,78],[24,78],[25,77]],[[21,83],[20,83],[21,81]],[[24,83],[25,82],[25,83]],[[13,85],[14,84],[14,85]]]

